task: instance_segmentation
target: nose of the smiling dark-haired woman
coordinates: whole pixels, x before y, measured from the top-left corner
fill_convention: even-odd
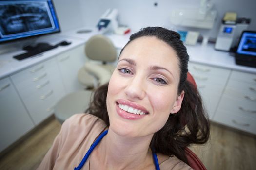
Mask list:
[[[132,77],[125,87],[125,94],[130,99],[143,99],[146,95],[143,78],[137,75]]]

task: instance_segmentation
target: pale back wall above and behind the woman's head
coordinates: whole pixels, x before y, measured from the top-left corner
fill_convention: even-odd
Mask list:
[[[200,0],[79,0],[83,24],[95,26],[99,17],[108,8],[117,8],[120,13],[120,22],[127,24],[133,30],[145,26],[164,26],[178,28],[169,21],[171,11],[180,8],[197,8]],[[154,3],[158,6],[155,7]],[[234,11],[238,17],[251,18],[249,29],[256,30],[256,0],[213,0],[218,12],[217,20],[212,30],[200,29],[202,34],[216,37],[220,22],[225,12]],[[195,30],[195,29],[190,29]]]

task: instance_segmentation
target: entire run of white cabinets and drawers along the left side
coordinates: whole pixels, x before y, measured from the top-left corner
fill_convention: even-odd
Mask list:
[[[77,74],[84,45],[0,80],[0,151],[53,113],[67,93],[83,89]]]

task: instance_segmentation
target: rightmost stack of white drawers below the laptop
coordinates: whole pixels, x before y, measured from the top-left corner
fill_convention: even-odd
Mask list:
[[[256,134],[256,75],[232,71],[214,121]]]

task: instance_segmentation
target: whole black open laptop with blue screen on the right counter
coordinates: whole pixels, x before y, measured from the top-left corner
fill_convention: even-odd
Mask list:
[[[243,31],[236,50],[236,64],[256,67],[256,31]]]

